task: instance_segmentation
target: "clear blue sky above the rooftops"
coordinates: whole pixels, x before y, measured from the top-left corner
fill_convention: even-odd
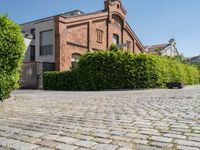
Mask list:
[[[17,23],[61,12],[103,9],[104,0],[0,0],[0,13]],[[122,0],[127,21],[144,45],[175,38],[184,56],[200,55],[200,0]]]

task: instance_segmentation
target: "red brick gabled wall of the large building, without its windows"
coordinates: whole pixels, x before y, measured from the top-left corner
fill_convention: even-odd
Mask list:
[[[143,48],[127,29],[126,12],[120,1],[105,7],[107,12],[72,18],[55,17],[56,69],[68,70],[73,53],[83,54],[88,49],[106,50],[113,43],[113,34],[119,36],[119,43],[131,42],[131,52],[140,53]],[[114,15],[113,15],[114,14]],[[114,17],[113,17],[114,16]],[[116,25],[116,21],[119,25]],[[97,41],[97,30],[102,31],[102,42]]]

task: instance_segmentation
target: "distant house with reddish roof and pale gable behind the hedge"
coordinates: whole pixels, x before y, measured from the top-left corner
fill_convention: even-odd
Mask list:
[[[167,44],[145,46],[145,49],[146,52],[150,54],[169,56],[169,57],[179,56],[179,52],[176,48],[175,39],[170,39],[169,43]]]

